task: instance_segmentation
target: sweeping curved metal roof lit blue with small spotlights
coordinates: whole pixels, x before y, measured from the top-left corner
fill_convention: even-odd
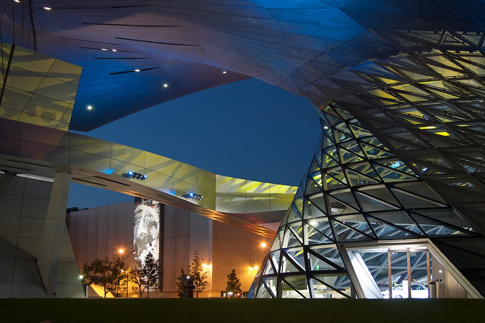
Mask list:
[[[70,125],[77,130],[248,77],[319,105],[347,94],[329,79],[345,67],[453,49],[485,29],[478,0],[1,3],[2,42],[82,66]]]

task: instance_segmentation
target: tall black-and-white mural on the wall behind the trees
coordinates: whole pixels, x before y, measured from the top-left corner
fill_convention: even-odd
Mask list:
[[[160,210],[162,203],[135,198],[133,246],[135,258],[144,261],[151,252],[155,261],[160,259]]]

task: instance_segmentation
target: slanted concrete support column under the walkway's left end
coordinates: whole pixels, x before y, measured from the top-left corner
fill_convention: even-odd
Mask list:
[[[71,174],[56,173],[50,193],[37,267],[47,295],[54,295]]]

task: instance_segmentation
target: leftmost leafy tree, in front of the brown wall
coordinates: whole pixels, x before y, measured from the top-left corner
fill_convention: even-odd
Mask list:
[[[113,270],[113,261],[108,257],[104,260],[95,259],[90,265],[85,263],[82,267],[82,275],[89,283],[103,287],[104,297],[108,292],[115,290],[118,282],[118,273]]]

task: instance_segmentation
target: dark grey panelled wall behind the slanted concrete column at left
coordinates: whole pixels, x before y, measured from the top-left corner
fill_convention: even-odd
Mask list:
[[[52,182],[0,174],[0,201],[8,200],[0,203],[0,298],[52,297],[46,295],[36,264],[51,189]],[[76,231],[76,242],[79,236]],[[69,280],[79,272],[68,238],[63,235],[55,297],[83,297],[81,281]]]

